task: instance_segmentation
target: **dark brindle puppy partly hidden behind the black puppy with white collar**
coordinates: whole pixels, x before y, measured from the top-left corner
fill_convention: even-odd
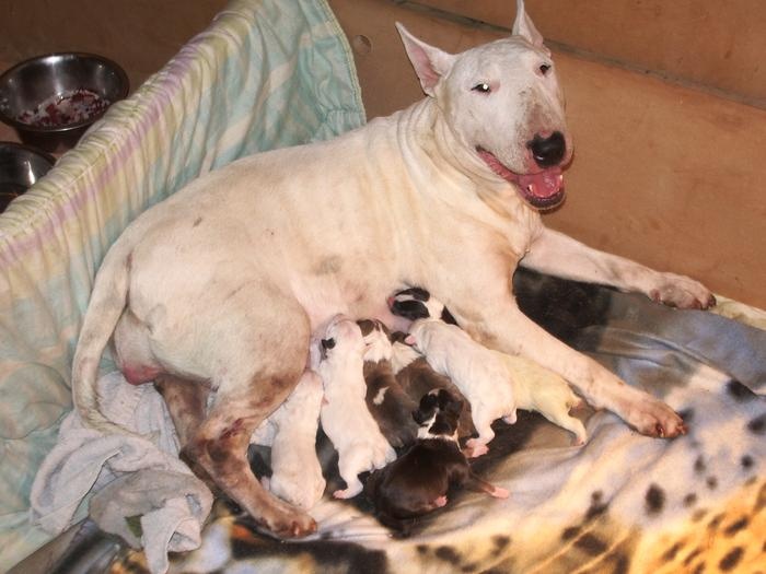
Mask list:
[[[465,397],[452,380],[437,373],[422,354],[405,342],[406,338],[406,332],[391,333],[391,365],[402,389],[414,400],[427,395],[431,389],[444,389],[461,400],[464,399]],[[471,437],[475,432],[476,427],[471,418],[471,405],[464,401],[457,422],[457,438]]]

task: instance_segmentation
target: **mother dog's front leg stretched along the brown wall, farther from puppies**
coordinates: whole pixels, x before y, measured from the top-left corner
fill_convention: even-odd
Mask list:
[[[565,279],[612,285],[620,291],[636,291],[681,308],[705,309],[716,304],[712,293],[693,279],[654,271],[630,259],[593,249],[545,227],[532,243],[521,265]]]

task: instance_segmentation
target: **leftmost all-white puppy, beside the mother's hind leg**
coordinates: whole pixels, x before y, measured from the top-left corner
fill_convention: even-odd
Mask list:
[[[320,502],[326,487],[316,456],[323,396],[320,376],[304,371],[288,399],[251,438],[252,443],[271,446],[271,477],[264,477],[263,485],[305,511]]]

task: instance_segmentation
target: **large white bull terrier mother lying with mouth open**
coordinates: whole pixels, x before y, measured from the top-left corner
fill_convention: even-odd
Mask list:
[[[76,351],[74,405],[104,432],[124,432],[95,394],[113,333],[132,383],[171,373],[213,389],[210,410],[187,420],[184,455],[278,537],[316,524],[252,473],[251,433],[295,386],[313,330],[339,311],[395,327],[385,297],[404,285],[640,432],[684,432],[670,407],[548,335],[511,293],[521,261],[678,307],[712,303],[696,281],[543,226],[572,145],[556,67],[523,2],[512,36],[457,55],[398,30],[427,97],[332,141],[233,162],[148,209],[107,253]]]

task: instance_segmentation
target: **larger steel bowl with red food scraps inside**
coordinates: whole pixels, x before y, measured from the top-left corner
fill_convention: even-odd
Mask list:
[[[15,128],[24,143],[48,152],[63,151],[73,147],[106,108],[76,121],[30,124],[28,116],[40,104],[45,107],[51,98],[67,101],[78,91],[88,91],[111,105],[127,96],[128,90],[125,71],[102,56],[83,52],[38,56],[0,75],[0,120]]]

